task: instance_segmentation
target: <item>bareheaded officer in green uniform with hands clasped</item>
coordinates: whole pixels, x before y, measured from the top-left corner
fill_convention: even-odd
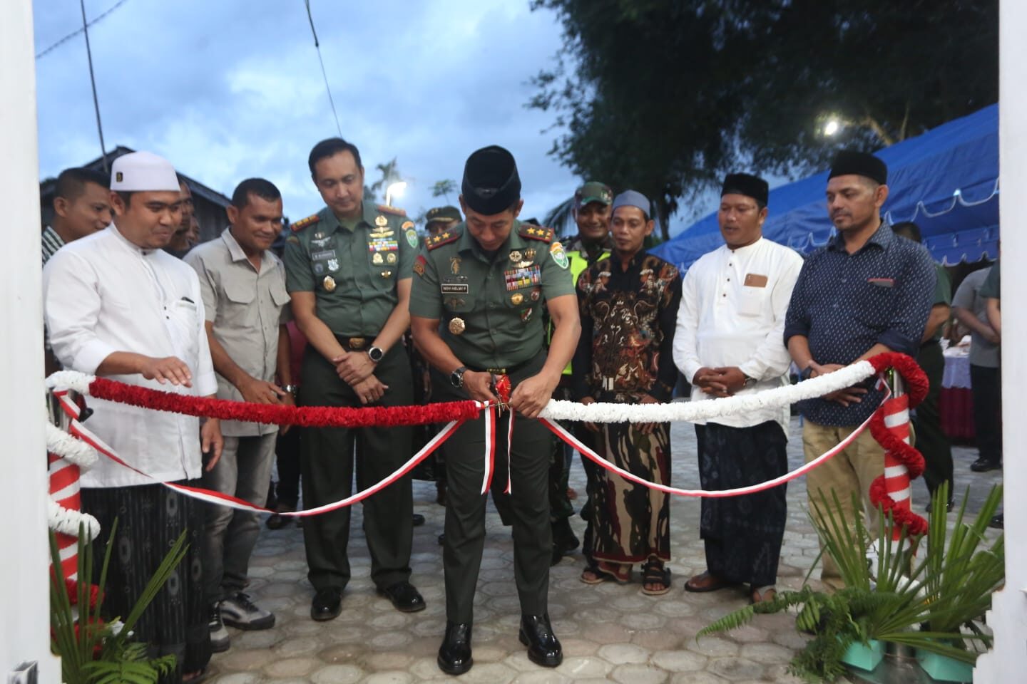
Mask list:
[[[299,403],[303,406],[407,406],[410,360],[400,341],[410,321],[411,268],[418,247],[402,210],[364,202],[364,167],[351,143],[334,137],[308,159],[328,205],[293,226],[286,239],[286,284],[296,323],[308,340]],[[300,439],[303,507],[351,493],[354,447],[360,489],[411,455],[410,428],[305,428]],[[402,611],[424,609],[410,584],[413,540],[410,478],[364,501],[371,579]],[[303,526],[310,616],[332,619],[349,581],[349,509],[308,518]]]

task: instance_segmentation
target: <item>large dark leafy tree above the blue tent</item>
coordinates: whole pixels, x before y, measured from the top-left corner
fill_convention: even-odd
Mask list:
[[[631,187],[664,238],[728,170],[793,174],[997,99],[997,0],[533,0],[564,47],[529,107],[551,154]],[[841,123],[827,137],[828,117]]]

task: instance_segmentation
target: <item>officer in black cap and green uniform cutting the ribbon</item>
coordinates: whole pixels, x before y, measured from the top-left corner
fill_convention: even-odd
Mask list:
[[[429,239],[414,264],[410,301],[414,340],[433,366],[440,401],[496,400],[492,383],[508,375],[517,411],[508,454],[498,420],[493,496],[508,508],[514,573],[521,601],[521,641],[532,661],[563,660],[547,614],[551,541],[546,495],[550,440],[534,418],[549,401],[580,333],[567,255],[553,231],[521,224],[521,179],[500,147],[474,152],[464,167],[460,205],[466,220]],[[546,350],[541,308],[554,323]],[[474,588],[485,544],[484,415],[447,443],[446,636],[439,667],[451,675],[471,666]]]

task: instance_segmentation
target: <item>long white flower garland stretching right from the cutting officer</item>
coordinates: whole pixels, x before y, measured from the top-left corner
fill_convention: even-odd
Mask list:
[[[869,361],[859,361],[833,373],[819,375],[798,385],[765,390],[757,394],[724,397],[705,401],[667,404],[580,404],[575,401],[550,400],[540,417],[550,420],[583,420],[587,423],[676,423],[709,420],[723,415],[749,413],[763,408],[784,408],[797,401],[814,399],[851,387],[877,371]]]

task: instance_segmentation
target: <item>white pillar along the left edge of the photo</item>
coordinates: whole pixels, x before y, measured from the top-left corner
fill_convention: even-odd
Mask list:
[[[50,654],[49,544],[46,533],[42,283],[36,64],[32,1],[0,2],[0,429],[3,515],[0,549],[0,681],[35,660],[42,683],[60,682]]]

